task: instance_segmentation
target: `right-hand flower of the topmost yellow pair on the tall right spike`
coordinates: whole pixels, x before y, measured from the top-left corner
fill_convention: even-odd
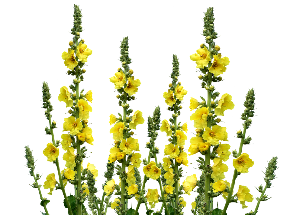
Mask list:
[[[227,66],[230,65],[230,58],[227,56],[221,57],[221,54],[215,54],[213,57],[214,60],[211,63],[211,67],[208,68],[208,71],[213,73],[215,77],[223,75],[227,70]]]

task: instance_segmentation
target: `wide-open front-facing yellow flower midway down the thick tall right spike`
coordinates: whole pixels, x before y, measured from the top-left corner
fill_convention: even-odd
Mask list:
[[[211,129],[209,127],[205,128],[205,131],[202,135],[202,138],[206,140],[211,145],[216,145],[219,143],[219,140],[225,141],[227,127],[221,125],[213,125]]]

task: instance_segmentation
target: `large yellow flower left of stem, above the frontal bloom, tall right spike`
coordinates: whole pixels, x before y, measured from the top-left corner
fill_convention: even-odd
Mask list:
[[[208,126],[208,107],[198,108],[189,116],[189,120],[193,121],[193,127],[197,129],[205,129]]]

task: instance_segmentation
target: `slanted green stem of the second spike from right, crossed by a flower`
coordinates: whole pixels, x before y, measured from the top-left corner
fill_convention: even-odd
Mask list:
[[[250,115],[247,115],[245,122],[248,121],[249,116]],[[243,136],[241,138],[241,142],[240,142],[240,145],[239,145],[238,157],[242,154],[242,151],[243,151],[243,143],[244,143],[245,136],[246,136],[246,130],[247,130],[247,124],[244,123]],[[227,208],[229,207],[229,204],[230,204],[230,198],[231,198],[231,196],[233,194],[233,191],[234,191],[236,179],[237,179],[237,170],[234,168],[234,174],[233,174],[232,182],[230,184],[230,192],[227,195],[227,200],[226,200],[226,203],[224,204],[224,209],[223,209],[223,212],[221,213],[221,215],[225,215],[226,212],[227,212]]]

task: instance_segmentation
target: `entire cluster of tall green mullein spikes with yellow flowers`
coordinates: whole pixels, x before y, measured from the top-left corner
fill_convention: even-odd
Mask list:
[[[227,128],[218,123],[222,122],[220,116],[224,116],[226,110],[233,110],[235,107],[233,97],[229,93],[220,93],[216,91],[213,82],[220,82],[230,64],[228,57],[222,57],[218,51],[220,46],[215,45],[217,32],[214,30],[213,7],[207,8],[203,18],[204,25],[202,35],[205,37],[206,44],[201,44],[195,54],[189,56],[194,61],[196,68],[201,73],[198,76],[201,82],[201,88],[206,90],[207,98],[200,96],[201,101],[194,97],[189,99],[189,110],[194,111],[189,120],[193,122],[195,135],[189,139],[189,146],[185,148],[188,137],[187,122],[178,122],[181,116],[184,97],[188,95],[188,90],[182,86],[179,81],[179,59],[176,54],[172,55],[172,73],[169,77],[172,81],[169,83],[169,89],[162,95],[167,105],[167,110],[172,111],[171,117],[161,120],[161,107],[158,105],[153,110],[152,116],[147,117],[147,135],[149,140],[145,143],[145,148],[149,150],[147,158],[141,160],[140,144],[134,135],[133,130],[137,130],[137,125],[142,126],[145,123],[143,112],[141,110],[133,111],[129,102],[136,99],[135,94],[141,86],[141,80],[133,76],[134,70],[129,67],[133,60],[129,57],[128,37],[123,37],[120,45],[121,67],[117,69],[109,81],[114,84],[118,105],[123,109],[118,116],[109,114],[109,129],[113,143],[108,153],[107,171],[103,174],[106,178],[102,184],[102,196],[97,197],[99,191],[95,187],[95,180],[98,177],[98,170],[95,164],[87,162],[86,168],[83,168],[83,161],[86,156],[87,148],[84,143],[94,145],[92,128],[89,127],[90,112],[92,106],[92,90],[79,90],[79,84],[84,80],[84,73],[88,62],[88,57],[92,55],[93,50],[89,49],[80,34],[82,28],[82,14],[79,5],[74,5],[74,27],[70,33],[74,35],[72,41],[69,41],[69,48],[61,54],[64,65],[69,69],[67,73],[74,76],[69,90],[66,86],[60,87],[58,101],[64,102],[68,110],[69,117],[63,119],[63,134],[60,135],[61,141],[55,139],[53,129],[57,128],[57,122],[52,120],[53,105],[51,104],[50,88],[48,83],[42,83],[42,107],[45,108],[44,115],[49,121],[49,127],[45,127],[47,135],[51,135],[51,142],[44,146],[43,155],[48,162],[56,165],[57,178],[55,173],[46,176],[43,185],[38,181],[41,178],[40,173],[34,173],[35,161],[33,150],[25,145],[26,167],[29,168],[29,175],[33,177],[31,186],[37,188],[40,196],[40,205],[44,208],[45,214],[49,214],[47,204],[50,202],[43,197],[41,187],[48,189],[48,195],[52,195],[54,190],[61,190],[63,194],[63,204],[67,208],[68,214],[89,214],[84,202],[91,211],[91,214],[107,214],[108,207],[111,207],[115,213],[121,214],[145,214],[140,212],[141,204],[145,205],[146,214],[166,214],[182,215],[184,208],[188,207],[185,195],[191,196],[192,191],[197,193],[194,201],[190,203],[190,210],[193,214],[226,214],[229,203],[240,202],[242,209],[248,206],[245,202],[257,200],[254,210],[249,214],[256,214],[261,201],[268,200],[265,194],[266,189],[272,185],[272,180],[276,177],[277,156],[273,156],[268,161],[268,166],[264,172],[265,186],[255,187],[261,193],[259,197],[254,198],[250,189],[243,184],[237,186],[234,193],[235,182],[238,175],[249,173],[255,162],[250,155],[242,152],[243,145],[253,144],[250,136],[246,137],[246,130],[251,126],[251,117],[255,116],[255,90],[248,90],[243,105],[245,109],[240,119],[243,122],[243,128],[237,130],[236,138],[240,139],[238,151],[230,150]],[[220,98],[218,99],[218,97]],[[158,131],[165,132],[168,137],[168,144],[163,149],[163,162],[158,162],[157,154],[160,153],[156,145]],[[161,143],[163,145],[163,143]],[[62,159],[65,161],[65,167],[60,168],[59,156],[60,145],[65,151]],[[199,163],[196,170],[201,171],[199,179],[197,174],[187,175],[181,183],[183,166],[189,167],[188,157],[201,154],[194,163]],[[233,157],[232,165],[234,167],[233,178],[231,182],[225,180],[224,173],[229,170],[224,162]],[[211,164],[212,161],[212,164]],[[143,177],[139,168],[142,167]],[[116,184],[114,176],[118,176]],[[241,176],[242,177],[242,176]],[[156,188],[145,188],[147,180],[155,180]],[[74,194],[66,194],[65,187],[68,184],[73,185]],[[159,189],[158,189],[159,188]],[[195,189],[196,188],[196,189]],[[234,194],[233,194],[234,193]],[[110,200],[112,195],[117,197]],[[223,209],[213,208],[215,197],[222,196],[225,199]],[[135,209],[128,208],[129,199],[134,198],[137,201]],[[190,197],[192,198],[192,197]],[[193,199],[191,199],[193,200]],[[154,210],[156,204],[161,202],[161,207]],[[140,210],[139,210],[140,209]],[[213,212],[214,211],[214,212]]]

